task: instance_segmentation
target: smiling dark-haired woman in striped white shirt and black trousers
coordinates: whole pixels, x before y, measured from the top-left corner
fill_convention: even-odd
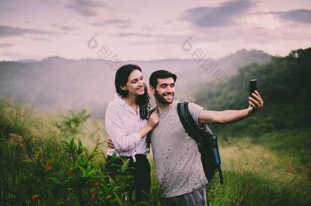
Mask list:
[[[148,118],[150,98],[147,93],[141,68],[137,65],[124,65],[116,72],[115,99],[109,103],[105,125],[114,149],[108,150],[107,161],[114,153],[131,159],[129,168],[134,178],[133,190],[136,190],[137,201],[143,200],[145,191],[149,194],[151,187],[150,165],[146,158],[149,151],[146,135],[157,126],[159,116],[153,112]],[[132,157],[132,158],[131,158]],[[121,165],[121,159],[117,164]],[[112,170],[115,172],[117,168]]]

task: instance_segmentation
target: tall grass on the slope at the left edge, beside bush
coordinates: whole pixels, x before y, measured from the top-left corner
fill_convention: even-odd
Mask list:
[[[35,152],[45,158],[59,148],[57,132],[32,111],[10,98],[0,100],[0,191],[4,200],[18,195],[18,175],[25,169],[23,159]]]

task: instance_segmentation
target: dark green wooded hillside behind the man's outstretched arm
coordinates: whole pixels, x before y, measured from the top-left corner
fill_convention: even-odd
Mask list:
[[[220,136],[247,134],[256,138],[274,130],[305,131],[311,128],[310,59],[308,47],[292,50],[285,57],[273,56],[267,64],[246,65],[221,86],[217,82],[201,82],[200,87],[206,90],[194,92],[194,102],[201,106],[208,104],[215,111],[245,109],[249,106],[249,80],[257,79],[257,91],[264,101],[261,111],[234,124],[211,125],[213,132],[222,133]],[[297,144],[310,144],[307,139],[309,136]]]

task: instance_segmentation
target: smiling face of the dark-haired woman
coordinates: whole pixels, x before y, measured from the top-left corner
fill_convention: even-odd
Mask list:
[[[145,94],[145,80],[143,74],[138,69],[133,70],[133,72],[128,76],[126,85],[122,86],[121,89],[126,89],[133,95]]]

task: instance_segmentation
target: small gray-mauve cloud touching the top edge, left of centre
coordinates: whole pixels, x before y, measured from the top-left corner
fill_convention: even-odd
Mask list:
[[[86,0],[73,0],[67,7],[82,14],[83,16],[97,16],[97,8],[107,8],[107,6],[102,3]]]

